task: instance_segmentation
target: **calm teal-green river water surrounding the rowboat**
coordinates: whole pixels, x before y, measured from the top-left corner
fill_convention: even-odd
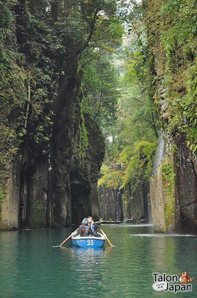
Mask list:
[[[99,249],[76,248],[76,226],[0,232],[2,298],[197,298],[197,237],[153,234],[152,225],[105,224]],[[192,292],[155,291],[154,276],[194,277]],[[174,285],[175,283],[173,283]]]

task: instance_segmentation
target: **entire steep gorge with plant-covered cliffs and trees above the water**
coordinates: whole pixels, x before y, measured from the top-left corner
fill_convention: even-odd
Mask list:
[[[197,5],[134,2],[122,16],[116,1],[0,1],[1,230],[91,214],[197,234]],[[126,61],[118,87],[113,51]]]

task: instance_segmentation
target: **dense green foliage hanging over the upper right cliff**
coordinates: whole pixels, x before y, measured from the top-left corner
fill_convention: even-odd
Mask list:
[[[188,146],[193,144],[194,152],[197,145],[197,5],[193,0],[151,0],[146,8],[151,10],[151,14],[147,11],[146,24],[152,52],[161,51],[161,60],[165,57],[168,130],[184,133]],[[156,76],[152,85],[158,83]],[[158,110],[159,102],[160,96],[155,94]]]

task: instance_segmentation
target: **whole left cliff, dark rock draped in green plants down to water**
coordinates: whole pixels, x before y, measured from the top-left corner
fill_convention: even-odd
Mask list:
[[[81,105],[70,7],[52,2],[0,3],[0,229],[99,219],[104,139]]]

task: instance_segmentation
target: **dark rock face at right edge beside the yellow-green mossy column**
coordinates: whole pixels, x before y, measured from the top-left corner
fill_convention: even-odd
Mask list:
[[[184,234],[197,233],[197,168],[182,136],[176,138],[175,201],[177,202],[176,229]]]

